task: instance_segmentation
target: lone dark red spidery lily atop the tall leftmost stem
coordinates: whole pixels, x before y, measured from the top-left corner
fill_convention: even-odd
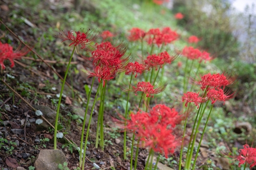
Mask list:
[[[62,38],[63,41],[69,40],[71,41],[70,45],[81,45],[81,48],[85,48],[87,44],[92,43],[93,41],[95,41],[100,34],[96,33],[96,34],[92,34],[90,37],[88,36],[89,34],[91,34],[92,31],[90,29],[87,30],[86,33],[81,33],[80,31],[75,31],[76,36],[74,36],[74,31],[69,31],[68,33],[65,33],[63,31],[61,31],[59,33],[60,38]],[[70,46],[69,45],[69,46]]]

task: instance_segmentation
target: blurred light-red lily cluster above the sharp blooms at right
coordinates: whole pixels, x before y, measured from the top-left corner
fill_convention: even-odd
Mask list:
[[[210,54],[203,51],[201,52],[197,48],[194,48],[192,46],[185,46],[182,50],[182,55],[187,57],[190,60],[199,60],[199,62],[204,61],[210,61],[213,58],[210,57]]]

